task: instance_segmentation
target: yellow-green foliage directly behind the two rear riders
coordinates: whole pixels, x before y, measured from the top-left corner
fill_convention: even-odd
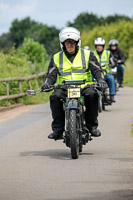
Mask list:
[[[81,34],[82,46],[88,45],[94,50],[94,40],[97,37],[103,37],[106,41],[105,48],[111,39],[117,39],[119,47],[124,51],[125,57],[129,55],[130,48],[133,44],[133,20],[119,21],[117,23],[106,24],[104,26],[96,26],[90,31],[83,31]]]

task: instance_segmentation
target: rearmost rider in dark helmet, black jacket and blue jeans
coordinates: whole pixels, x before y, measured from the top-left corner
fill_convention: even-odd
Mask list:
[[[113,54],[116,62],[117,62],[117,77],[119,87],[123,87],[123,78],[124,78],[124,67],[121,64],[125,63],[125,57],[123,51],[118,48],[118,41],[116,39],[112,39],[109,41],[109,48]]]

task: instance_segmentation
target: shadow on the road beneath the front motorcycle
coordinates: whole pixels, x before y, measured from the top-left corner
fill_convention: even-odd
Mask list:
[[[92,156],[93,153],[80,153],[80,156]],[[48,156],[57,160],[71,160],[70,150],[66,149],[50,149],[46,151],[25,151],[20,156]]]

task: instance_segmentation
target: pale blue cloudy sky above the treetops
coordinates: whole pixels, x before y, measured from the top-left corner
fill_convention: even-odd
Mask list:
[[[106,17],[133,17],[133,0],[0,0],[0,35],[9,32],[14,19],[29,16],[39,23],[63,28],[82,12]]]

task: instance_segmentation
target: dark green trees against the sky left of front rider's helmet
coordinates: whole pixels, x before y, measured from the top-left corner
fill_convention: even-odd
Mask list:
[[[10,27],[9,33],[0,37],[0,47],[4,51],[14,46],[20,47],[24,38],[33,38],[44,45],[47,53],[52,55],[60,49],[58,40],[59,30],[54,26],[47,26],[26,17],[22,20],[15,19]],[[54,42],[54,44],[53,44]]]

